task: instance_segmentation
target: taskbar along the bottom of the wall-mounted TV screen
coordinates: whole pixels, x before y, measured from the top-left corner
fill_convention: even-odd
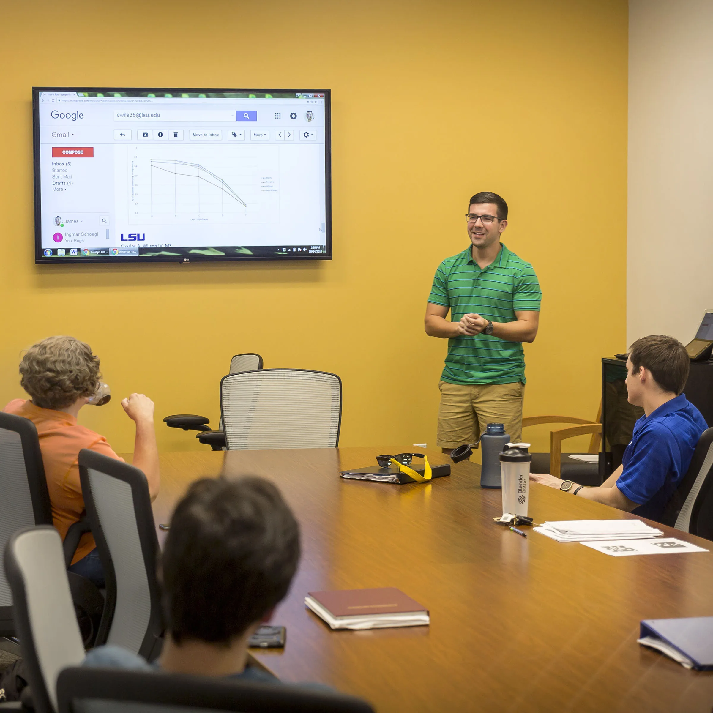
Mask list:
[[[47,247],[42,250],[45,258],[71,257],[158,257],[183,258],[184,260],[206,260],[240,257],[308,257],[327,255],[325,245],[250,245],[216,247],[143,247],[139,245],[120,245],[118,247]]]

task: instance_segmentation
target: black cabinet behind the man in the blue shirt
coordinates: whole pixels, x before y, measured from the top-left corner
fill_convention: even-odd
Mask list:
[[[625,379],[625,361],[602,358],[602,478],[621,465],[634,424],[644,415],[644,409],[627,401]],[[701,412],[708,426],[713,426],[713,361],[691,362],[683,393]]]

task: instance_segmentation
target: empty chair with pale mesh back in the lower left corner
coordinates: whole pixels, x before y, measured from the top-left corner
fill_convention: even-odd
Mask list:
[[[36,713],[54,713],[58,673],[84,658],[59,533],[51,525],[18,530],[4,563],[32,704]]]

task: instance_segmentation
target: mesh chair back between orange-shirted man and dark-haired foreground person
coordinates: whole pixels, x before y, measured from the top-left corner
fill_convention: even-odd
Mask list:
[[[158,539],[146,476],[86,448],[79,451],[79,476],[106,579],[96,645],[115,644],[153,660],[160,652],[163,622]]]

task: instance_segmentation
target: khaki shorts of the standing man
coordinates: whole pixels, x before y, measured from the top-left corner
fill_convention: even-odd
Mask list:
[[[523,431],[525,384],[448,384],[441,381],[436,445],[457,448],[476,443],[487,424],[505,424],[511,441],[519,441]]]

